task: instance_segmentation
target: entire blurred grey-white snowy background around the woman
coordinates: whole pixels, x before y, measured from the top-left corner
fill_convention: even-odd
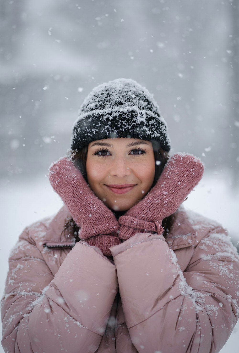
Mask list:
[[[121,77],[154,94],[171,154],[205,163],[185,207],[238,246],[239,1],[1,0],[1,293],[19,233],[60,208],[45,174],[69,148],[80,104]],[[221,352],[238,352],[237,329]]]

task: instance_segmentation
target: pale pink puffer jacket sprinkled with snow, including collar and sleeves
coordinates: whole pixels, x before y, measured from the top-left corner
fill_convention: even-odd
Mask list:
[[[137,233],[113,263],[63,233],[69,217],[64,206],[12,250],[5,352],[220,351],[239,316],[239,258],[220,225],[181,207],[166,241]]]

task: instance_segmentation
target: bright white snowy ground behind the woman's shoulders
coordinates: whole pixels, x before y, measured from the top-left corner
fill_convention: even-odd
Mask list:
[[[205,174],[200,184],[184,202],[186,208],[217,220],[229,231],[232,238],[239,241],[238,218],[239,188],[230,189],[230,176]],[[44,176],[35,180],[18,183],[2,182],[1,195],[1,250],[0,250],[0,293],[8,269],[7,260],[10,249],[16,243],[23,228],[43,217],[55,214],[61,207],[60,198],[51,189]],[[0,328],[1,329],[1,328]],[[236,353],[239,346],[239,322],[220,353]],[[0,347],[0,353],[4,352]]]

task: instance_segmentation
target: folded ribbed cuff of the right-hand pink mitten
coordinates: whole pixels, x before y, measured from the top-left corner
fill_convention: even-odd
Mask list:
[[[119,230],[119,238],[123,240],[126,240],[130,238],[133,234],[139,232],[155,232],[157,234],[162,234],[164,231],[163,227],[161,226],[161,222],[157,221],[148,222],[139,220],[131,216],[121,216],[119,217],[118,222],[119,225],[121,225]]]

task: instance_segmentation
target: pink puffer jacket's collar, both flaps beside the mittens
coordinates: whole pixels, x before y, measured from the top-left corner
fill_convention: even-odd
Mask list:
[[[49,224],[43,241],[44,246],[50,248],[74,247],[74,234],[70,230],[64,232],[65,223],[71,218],[68,208],[64,205]],[[171,250],[182,249],[195,243],[195,231],[189,223],[182,205],[176,211],[166,242]]]

